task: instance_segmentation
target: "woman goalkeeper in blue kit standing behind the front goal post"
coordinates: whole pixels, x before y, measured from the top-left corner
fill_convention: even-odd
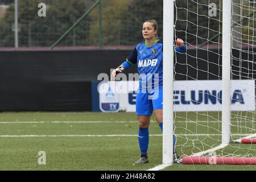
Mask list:
[[[144,42],[139,43],[127,57],[126,61],[114,69],[111,80],[118,73],[137,65],[139,88],[136,98],[136,114],[139,122],[138,140],[141,158],[135,164],[148,163],[148,126],[153,111],[160,129],[163,131],[163,42],[158,39],[158,23],[146,20],[143,23],[142,35]],[[187,50],[182,39],[177,39],[175,51],[184,53]],[[175,144],[175,136],[174,136]],[[174,162],[179,158],[174,149]]]

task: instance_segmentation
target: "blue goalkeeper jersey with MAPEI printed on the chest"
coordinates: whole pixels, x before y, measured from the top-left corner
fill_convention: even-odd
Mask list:
[[[176,51],[185,52],[186,47],[176,47]],[[157,42],[147,47],[144,42],[139,43],[130,53],[126,61],[137,64],[139,73],[139,89],[148,90],[163,87],[163,42]]]

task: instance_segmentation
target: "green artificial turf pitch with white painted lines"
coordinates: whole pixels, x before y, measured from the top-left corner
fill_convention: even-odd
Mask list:
[[[248,113],[232,113],[231,140],[253,134]],[[237,117],[239,116],[239,117]],[[175,113],[176,150],[181,156],[221,144],[219,113]],[[134,113],[3,112],[0,113],[0,170],[147,170],[162,164],[162,131],[150,124],[148,164],[139,159],[138,123]],[[39,151],[46,164],[39,164]],[[217,155],[256,156],[256,144],[236,144]],[[163,170],[255,170],[255,166],[174,164]]]

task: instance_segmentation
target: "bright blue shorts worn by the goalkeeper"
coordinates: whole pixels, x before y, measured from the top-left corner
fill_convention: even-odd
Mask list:
[[[152,115],[156,109],[163,109],[163,89],[152,94],[142,93],[137,90],[136,97],[136,114],[137,115]]]

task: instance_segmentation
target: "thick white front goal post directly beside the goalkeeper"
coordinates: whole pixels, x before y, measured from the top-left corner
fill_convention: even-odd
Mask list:
[[[172,164],[174,125],[174,0],[163,0],[163,164]]]

